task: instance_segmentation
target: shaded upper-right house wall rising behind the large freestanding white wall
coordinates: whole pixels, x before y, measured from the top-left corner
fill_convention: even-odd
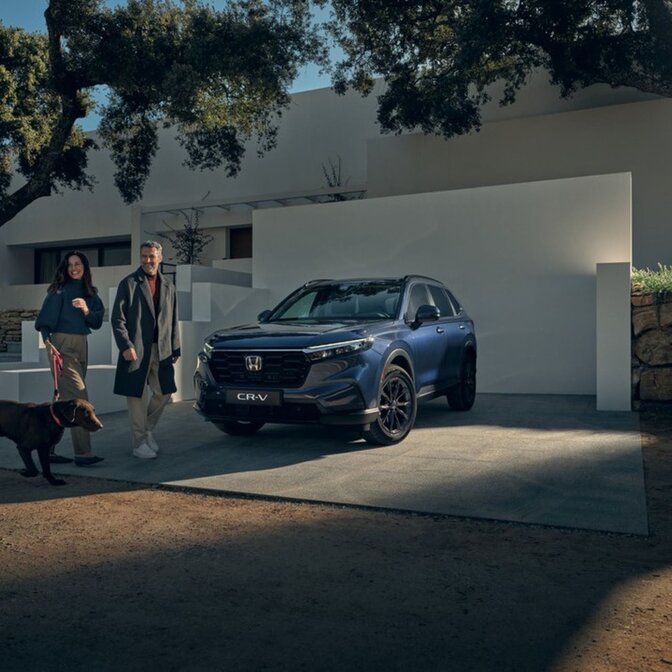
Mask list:
[[[444,191],[532,180],[632,173],[633,263],[672,264],[672,100],[486,123],[443,140],[369,142],[368,195]]]

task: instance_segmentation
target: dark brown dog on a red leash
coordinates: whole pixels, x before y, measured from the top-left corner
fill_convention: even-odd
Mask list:
[[[49,465],[49,449],[63,438],[64,428],[83,427],[89,432],[97,432],[102,426],[93,404],[84,399],[55,401],[52,404],[0,401],[0,436],[16,443],[26,465],[21,475],[32,478],[39,473],[31,456],[36,450],[42,475],[52,485],[65,485],[65,481],[54,478]]]

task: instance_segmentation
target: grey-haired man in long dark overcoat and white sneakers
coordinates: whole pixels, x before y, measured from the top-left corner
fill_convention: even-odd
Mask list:
[[[127,398],[133,455],[143,460],[159,452],[152,432],[177,391],[173,365],[181,354],[177,295],[159,273],[162,259],[160,243],[142,243],[140,268],[119,283],[111,316],[119,348],[114,393]]]

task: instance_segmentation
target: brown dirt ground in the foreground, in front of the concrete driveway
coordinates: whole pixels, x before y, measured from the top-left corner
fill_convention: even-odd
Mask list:
[[[672,672],[672,415],[646,538],[0,471],[0,669]]]

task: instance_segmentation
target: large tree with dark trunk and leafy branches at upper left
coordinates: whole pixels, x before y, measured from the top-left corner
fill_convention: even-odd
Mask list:
[[[301,0],[48,0],[46,34],[0,23],[0,226],[35,199],[92,188],[96,147],[76,122],[105,86],[100,136],[131,203],[142,195],[172,127],[185,165],[235,175],[245,143],[276,143],[288,87],[307,62],[324,61]]]

